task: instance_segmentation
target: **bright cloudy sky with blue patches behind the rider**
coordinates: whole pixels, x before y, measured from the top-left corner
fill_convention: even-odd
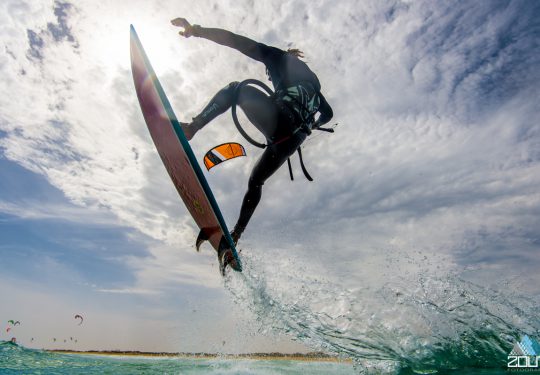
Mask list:
[[[3,0],[0,321],[23,324],[0,338],[311,349],[261,328],[213,250],[194,250],[198,231],[137,102],[129,26],[180,121],[229,82],[265,74],[232,49],[181,38],[179,16],[303,50],[338,123],[305,143],[314,182],[293,157],[294,181],[283,168],[265,184],[240,243],[249,272],[346,289],[429,269],[538,299],[540,3]],[[191,145],[202,164],[227,141],[247,157],[206,177],[232,227],[260,150],[230,113]]]

